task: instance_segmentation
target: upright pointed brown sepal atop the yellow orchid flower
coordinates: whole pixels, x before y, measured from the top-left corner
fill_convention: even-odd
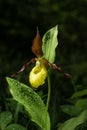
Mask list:
[[[34,40],[33,40],[32,52],[33,52],[37,57],[42,57],[42,56],[43,56],[43,52],[42,52],[42,40],[41,40],[41,36],[40,36],[40,33],[39,33],[38,28],[37,28],[36,37],[35,37]]]

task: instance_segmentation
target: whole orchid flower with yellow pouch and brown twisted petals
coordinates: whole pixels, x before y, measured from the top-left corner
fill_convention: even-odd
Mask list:
[[[32,58],[28,63],[24,64],[18,72],[12,75],[12,77],[24,71],[31,63],[36,62],[35,67],[31,70],[29,74],[29,82],[31,86],[35,89],[45,83],[48,74],[48,66],[51,66],[58,72],[63,73],[66,77],[71,78],[70,74],[64,73],[62,69],[56,64],[50,63],[48,60],[45,59],[42,51],[42,40],[38,29],[37,35],[32,44],[32,52],[36,55],[36,58]]]

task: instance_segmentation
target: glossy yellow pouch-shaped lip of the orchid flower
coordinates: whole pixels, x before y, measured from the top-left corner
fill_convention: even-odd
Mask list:
[[[29,82],[33,88],[38,88],[45,83],[47,77],[47,69],[44,65],[36,65],[30,72]]]

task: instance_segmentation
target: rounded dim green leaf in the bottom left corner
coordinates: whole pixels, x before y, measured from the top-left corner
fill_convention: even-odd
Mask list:
[[[12,121],[12,114],[9,111],[0,113],[0,128],[4,130],[5,127]]]

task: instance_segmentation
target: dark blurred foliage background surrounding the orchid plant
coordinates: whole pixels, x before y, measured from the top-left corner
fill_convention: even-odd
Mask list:
[[[34,57],[31,45],[36,27],[39,27],[43,36],[49,28],[58,24],[59,45],[55,62],[64,71],[71,73],[72,79],[66,79],[62,74],[52,71],[49,107],[52,130],[56,129],[58,122],[70,118],[70,115],[62,112],[60,106],[74,104],[75,101],[69,97],[74,92],[87,89],[86,12],[87,0],[0,0],[0,111],[10,110],[7,101],[10,94],[5,77]],[[28,84],[31,67],[17,78]],[[43,91],[46,93],[47,88],[44,87]],[[26,116],[22,116],[21,120],[24,119],[27,121]],[[23,125],[25,124],[24,121]]]

